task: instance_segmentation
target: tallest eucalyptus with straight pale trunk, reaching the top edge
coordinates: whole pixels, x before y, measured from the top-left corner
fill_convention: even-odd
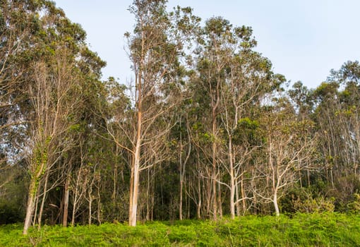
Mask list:
[[[108,128],[116,145],[128,152],[131,177],[129,224],[136,226],[140,171],[168,159],[167,135],[174,124],[171,111],[181,100],[183,66],[191,27],[198,18],[191,8],[167,12],[167,1],[136,0],[129,8],[136,18],[133,34],[126,33],[134,73],[130,85],[131,109],[116,112]],[[122,116],[121,116],[122,115]],[[109,126],[109,125],[108,125]],[[116,128],[126,140],[116,138]]]

